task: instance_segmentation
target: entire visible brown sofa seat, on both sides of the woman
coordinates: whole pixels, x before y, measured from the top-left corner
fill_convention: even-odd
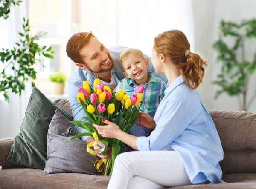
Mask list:
[[[45,175],[43,170],[29,168],[2,169],[0,187],[3,189],[106,189],[110,176],[80,173],[56,173]],[[224,174],[225,184],[197,184],[169,189],[253,189],[256,173]]]

